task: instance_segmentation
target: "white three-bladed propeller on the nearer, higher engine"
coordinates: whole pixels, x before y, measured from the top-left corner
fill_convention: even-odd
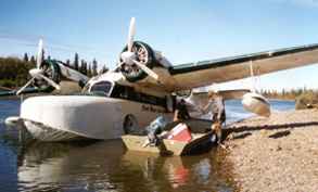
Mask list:
[[[129,31],[128,31],[127,51],[124,51],[120,54],[120,59],[122,59],[123,62],[120,62],[119,67],[123,64],[126,64],[126,65],[136,64],[144,73],[147,73],[150,77],[152,77],[153,79],[155,79],[157,81],[158,80],[158,75],[156,73],[154,73],[152,69],[150,69],[148,66],[145,66],[144,64],[142,64],[139,61],[137,61],[137,54],[136,54],[136,52],[132,51],[133,37],[135,37],[135,34],[136,34],[136,27],[135,26],[136,26],[136,20],[135,20],[135,17],[131,17],[130,25],[129,25]]]

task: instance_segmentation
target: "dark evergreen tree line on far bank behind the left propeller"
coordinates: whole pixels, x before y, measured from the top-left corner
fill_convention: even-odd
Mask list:
[[[42,55],[44,57],[44,53]],[[47,60],[51,60],[50,55]],[[98,69],[98,62],[93,59],[91,62],[86,60],[79,60],[78,53],[75,53],[74,60],[65,61],[65,65],[80,72],[88,77],[98,75],[99,73],[105,73],[109,71],[106,65]],[[22,59],[20,57],[0,57],[0,86],[7,88],[21,87],[27,82],[29,74],[28,71],[36,67],[36,57],[24,53]]]

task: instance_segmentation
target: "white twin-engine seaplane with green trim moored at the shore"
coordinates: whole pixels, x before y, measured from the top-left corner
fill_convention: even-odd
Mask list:
[[[158,115],[171,117],[181,98],[192,110],[198,108],[206,102],[206,93],[191,91],[195,88],[249,78],[256,72],[263,75],[318,62],[318,44],[308,44],[176,65],[162,52],[135,40],[135,24],[132,17],[128,41],[115,69],[92,78],[63,62],[42,60],[40,41],[37,67],[29,71],[33,78],[21,89],[0,95],[59,90],[63,78],[81,85],[81,92],[30,97],[22,102],[20,116],[8,117],[5,124],[18,124],[41,141],[116,139],[142,129]],[[270,115],[267,99],[256,91],[218,92],[227,99],[241,99],[250,112]]]

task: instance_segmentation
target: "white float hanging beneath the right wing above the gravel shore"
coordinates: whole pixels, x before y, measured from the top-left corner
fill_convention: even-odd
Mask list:
[[[259,116],[270,116],[270,104],[266,98],[255,92],[249,92],[243,95],[242,99],[243,107],[252,113]]]

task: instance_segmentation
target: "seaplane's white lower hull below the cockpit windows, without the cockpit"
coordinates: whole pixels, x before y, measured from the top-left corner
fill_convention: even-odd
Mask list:
[[[124,121],[128,115],[142,128],[161,114],[168,115],[161,106],[92,95],[35,97],[21,106],[21,118],[27,130],[36,139],[44,141],[71,140],[73,135],[116,139],[124,133]],[[49,133],[48,129],[54,133]]]

